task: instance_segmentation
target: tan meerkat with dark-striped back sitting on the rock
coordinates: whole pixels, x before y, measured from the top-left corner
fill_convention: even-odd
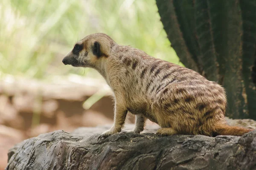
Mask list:
[[[106,34],[90,34],[74,45],[65,65],[96,69],[113,91],[114,123],[98,140],[119,133],[127,112],[136,115],[134,133],[145,120],[160,125],[158,135],[234,135],[253,129],[230,126],[225,120],[224,88],[196,71],[117,44]]]

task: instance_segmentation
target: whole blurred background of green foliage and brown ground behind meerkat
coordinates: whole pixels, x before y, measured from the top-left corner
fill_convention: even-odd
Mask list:
[[[24,139],[113,122],[111,91],[99,73],[61,62],[97,32],[182,65],[155,0],[0,1],[0,169]]]

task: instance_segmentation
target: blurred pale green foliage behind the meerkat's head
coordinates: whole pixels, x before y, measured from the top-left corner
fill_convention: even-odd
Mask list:
[[[97,77],[92,69],[87,74],[61,62],[77,40],[96,32],[181,65],[155,0],[1,0],[0,21],[0,76]]]

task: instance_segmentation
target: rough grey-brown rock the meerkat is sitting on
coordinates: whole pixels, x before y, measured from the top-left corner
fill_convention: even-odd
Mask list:
[[[126,125],[132,129],[134,125]],[[27,139],[9,150],[6,170],[253,170],[256,131],[244,136],[160,137],[118,133],[97,142],[111,125],[62,130]]]

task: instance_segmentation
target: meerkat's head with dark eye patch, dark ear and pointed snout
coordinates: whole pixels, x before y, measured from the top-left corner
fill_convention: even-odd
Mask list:
[[[77,42],[62,62],[74,67],[97,68],[108,58],[115,44],[106,34],[90,34]]]

